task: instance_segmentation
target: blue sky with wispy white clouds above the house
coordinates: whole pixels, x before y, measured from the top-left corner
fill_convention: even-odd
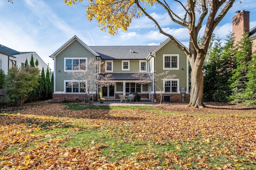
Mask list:
[[[146,16],[133,19],[127,31],[110,35],[101,31],[95,20],[87,20],[86,2],[67,6],[64,0],[13,0],[13,4],[0,0],[0,45],[20,52],[34,51],[54,70],[54,61],[49,56],[74,35],[89,46],[160,45],[168,38]],[[188,46],[186,28],[170,21],[159,5],[147,9],[164,31]],[[238,10],[250,11],[250,28],[256,26],[255,0],[236,0],[214,31],[223,41],[232,31],[232,17]],[[174,8],[174,12],[183,16],[181,11],[178,6]]]

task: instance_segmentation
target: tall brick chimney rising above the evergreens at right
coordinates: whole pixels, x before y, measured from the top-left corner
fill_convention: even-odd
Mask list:
[[[250,12],[237,11],[236,15],[232,18],[232,31],[234,34],[234,43],[243,38],[244,32],[250,31]]]

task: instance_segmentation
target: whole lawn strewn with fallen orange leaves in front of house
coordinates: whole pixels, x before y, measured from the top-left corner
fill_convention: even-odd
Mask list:
[[[30,104],[2,112],[0,169],[256,170],[255,110],[197,110]]]

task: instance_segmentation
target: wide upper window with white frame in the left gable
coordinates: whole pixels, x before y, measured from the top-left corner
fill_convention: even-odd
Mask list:
[[[79,59],[65,58],[64,64],[65,64],[65,71],[85,70],[87,66],[86,65],[87,58],[79,58]]]

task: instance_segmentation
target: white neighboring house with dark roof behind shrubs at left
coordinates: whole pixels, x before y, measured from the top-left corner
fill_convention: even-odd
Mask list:
[[[26,59],[28,59],[28,64],[30,63],[31,55],[33,55],[34,62],[36,62],[36,59],[38,60],[38,68],[42,70],[44,67],[44,70],[46,71],[48,64],[44,63],[44,61],[36,54],[36,52],[19,52],[5,47],[4,45],[0,45],[0,59],[2,61],[1,68],[6,74],[8,69],[14,66],[23,68]],[[50,67],[48,68],[49,71],[51,71]]]

